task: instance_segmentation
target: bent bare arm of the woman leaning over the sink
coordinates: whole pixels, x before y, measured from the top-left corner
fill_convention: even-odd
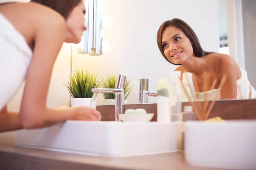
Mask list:
[[[35,47],[20,108],[21,125],[29,129],[49,126],[67,119],[100,120],[100,113],[90,107],[46,107],[52,68],[65,40],[66,24],[64,18],[52,10],[38,11],[35,20]]]

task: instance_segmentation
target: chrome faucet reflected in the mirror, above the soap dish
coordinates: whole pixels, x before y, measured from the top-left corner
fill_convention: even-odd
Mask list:
[[[140,104],[148,103],[148,96],[156,97],[156,93],[148,91],[148,79],[140,79]]]

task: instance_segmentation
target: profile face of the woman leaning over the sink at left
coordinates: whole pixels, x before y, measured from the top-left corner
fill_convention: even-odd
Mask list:
[[[81,41],[83,31],[87,30],[87,27],[84,25],[85,12],[86,12],[86,9],[82,1],[70,12],[66,21],[66,25],[67,25],[66,42],[79,43]]]

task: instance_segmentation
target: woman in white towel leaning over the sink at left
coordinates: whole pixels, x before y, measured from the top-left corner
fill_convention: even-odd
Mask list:
[[[82,0],[32,0],[0,5],[0,132],[46,127],[65,120],[100,120],[90,107],[46,107],[53,64],[63,42],[79,43]],[[26,79],[20,113],[7,102]]]

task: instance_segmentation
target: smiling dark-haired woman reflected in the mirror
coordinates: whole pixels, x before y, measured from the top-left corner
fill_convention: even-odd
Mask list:
[[[157,44],[163,57],[174,65],[180,65],[175,71],[191,72],[199,92],[207,94],[207,99],[213,99],[223,75],[227,79],[221,88],[217,99],[241,99],[248,98],[251,88],[251,96],[256,97],[256,91],[250,87],[247,72],[239,68],[236,61],[226,55],[204,51],[192,28],[180,19],[164,22],[157,32]],[[217,79],[214,90],[204,91],[204,73],[207,72],[207,81],[212,85]],[[241,92],[238,93],[238,92]]]

